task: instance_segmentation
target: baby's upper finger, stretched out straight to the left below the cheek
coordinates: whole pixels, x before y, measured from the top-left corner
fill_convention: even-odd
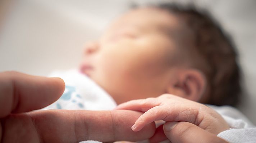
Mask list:
[[[131,100],[122,104],[119,104],[115,110],[134,110],[134,111],[141,111],[146,112],[147,110],[160,105],[161,102],[157,98],[147,98],[147,99],[138,99],[138,100]]]

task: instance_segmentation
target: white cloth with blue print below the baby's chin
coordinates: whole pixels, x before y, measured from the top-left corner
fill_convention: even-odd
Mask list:
[[[50,77],[60,77],[66,84],[59,100],[44,109],[112,110],[114,99],[90,78],[77,70],[55,71]]]

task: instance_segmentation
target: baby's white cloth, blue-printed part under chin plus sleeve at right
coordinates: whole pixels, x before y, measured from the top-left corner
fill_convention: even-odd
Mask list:
[[[115,101],[108,93],[77,70],[56,71],[50,77],[62,78],[66,89],[59,100],[44,109],[112,110],[116,107]],[[256,128],[241,112],[229,106],[208,106],[222,115],[230,126],[229,130],[219,133],[218,137],[230,143],[256,142]]]

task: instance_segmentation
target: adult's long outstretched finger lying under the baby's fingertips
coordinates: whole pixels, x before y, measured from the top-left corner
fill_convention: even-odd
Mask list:
[[[145,140],[155,133],[155,124],[133,132],[131,126],[141,114],[131,110],[40,110],[12,114],[2,122],[5,132],[3,143],[17,139],[20,143]]]

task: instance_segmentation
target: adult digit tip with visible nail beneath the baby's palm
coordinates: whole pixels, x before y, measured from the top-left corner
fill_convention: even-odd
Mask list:
[[[172,143],[228,143],[189,122],[166,122],[164,133]]]

